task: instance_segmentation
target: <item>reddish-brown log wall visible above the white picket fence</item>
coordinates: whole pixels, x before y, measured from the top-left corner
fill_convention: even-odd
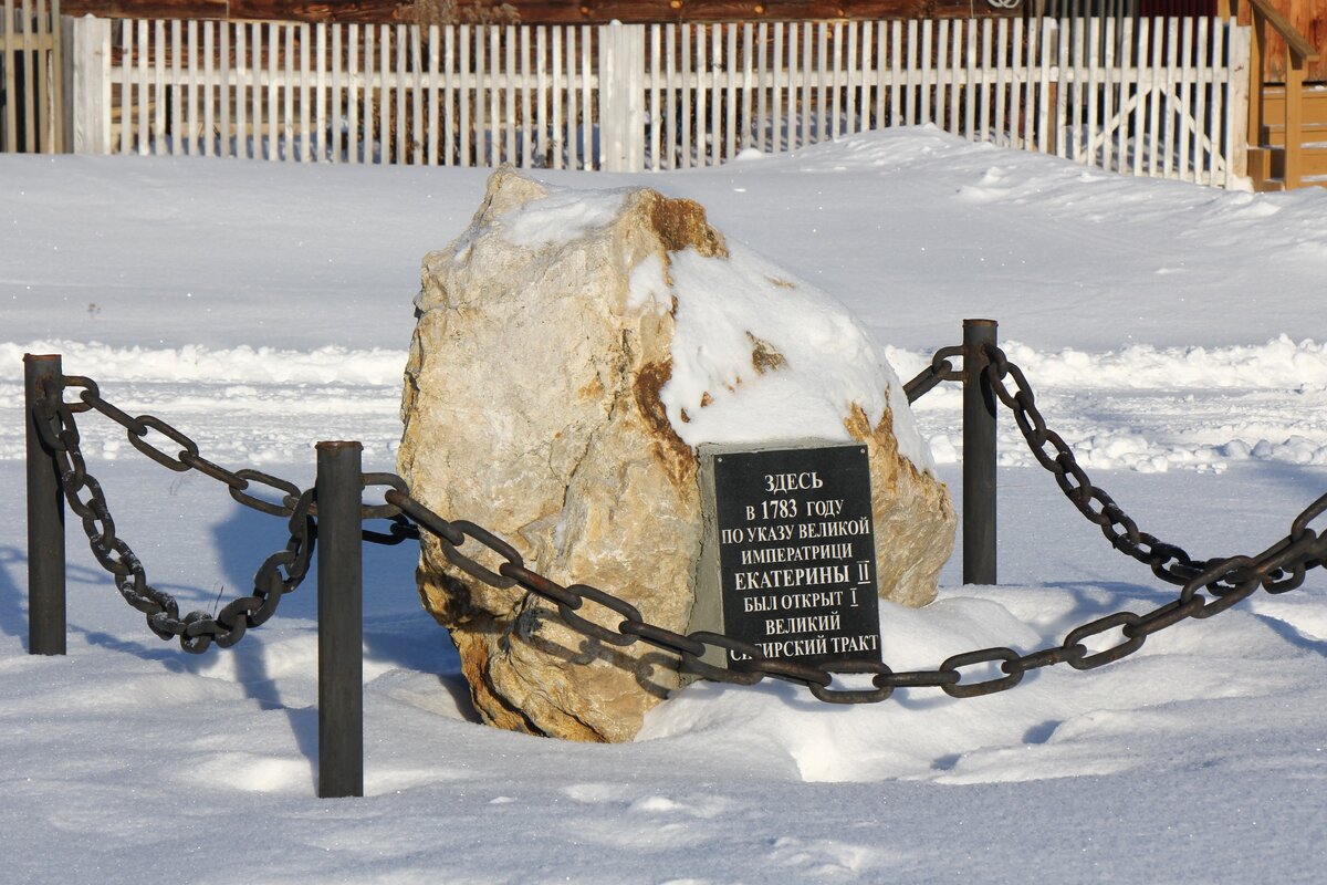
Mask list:
[[[435,3],[435,5],[443,5]],[[65,0],[65,15],[104,19],[414,21],[414,0]],[[458,23],[605,24],[820,21],[1022,15],[987,0],[456,0]]]

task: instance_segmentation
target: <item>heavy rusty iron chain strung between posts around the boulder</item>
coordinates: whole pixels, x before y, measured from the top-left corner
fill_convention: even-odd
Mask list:
[[[962,353],[962,348],[945,348],[937,353],[932,366],[909,382],[909,398],[916,399],[936,383],[954,379],[955,369],[949,358]],[[362,519],[387,519],[390,531],[364,532],[365,540],[397,544],[406,539],[419,539],[423,532],[437,536],[445,557],[458,569],[479,581],[498,589],[520,589],[547,600],[557,609],[561,620],[580,633],[614,646],[629,646],[636,642],[670,651],[681,658],[681,670],[701,678],[738,685],[754,685],[764,678],[783,679],[807,686],[812,695],[828,703],[876,703],[888,699],[897,689],[940,689],[953,698],[974,698],[1006,691],[1019,685],[1023,675],[1031,670],[1068,663],[1076,670],[1091,670],[1137,651],[1147,637],[1173,626],[1188,618],[1208,618],[1223,612],[1247,598],[1259,588],[1269,593],[1283,593],[1299,586],[1308,569],[1319,568],[1327,560],[1327,536],[1319,536],[1310,524],[1327,512],[1327,495],[1304,508],[1291,523],[1290,533],[1257,556],[1233,556],[1222,560],[1196,563],[1182,549],[1164,544],[1151,535],[1140,532],[1137,525],[1119,510],[1105,492],[1088,482],[1087,475],[1074,460],[1064,441],[1051,430],[1036,410],[1031,389],[1022,370],[1010,362],[998,348],[989,348],[986,377],[994,393],[1015,414],[1015,421],[1038,460],[1056,474],[1066,495],[1088,516],[1103,527],[1112,544],[1140,561],[1152,565],[1157,576],[1182,584],[1177,598],[1157,606],[1144,614],[1115,612],[1096,618],[1071,630],[1059,645],[1022,654],[1014,649],[995,646],[975,649],[946,658],[934,670],[896,671],[884,662],[872,661],[827,661],[816,666],[766,658],[756,646],[740,640],[697,630],[689,634],[677,633],[644,620],[640,609],[612,593],[588,584],[564,586],[539,572],[525,567],[524,559],[510,543],[498,535],[466,520],[447,520],[411,496],[406,482],[394,474],[365,474],[364,486],[387,486],[384,504],[361,506]],[[925,375],[925,378],[924,378]],[[959,373],[961,375],[961,373]],[[1003,379],[1013,377],[1016,391],[1010,391]],[[933,381],[932,381],[933,379]],[[147,614],[147,624],[158,636],[180,637],[180,644],[188,651],[203,651],[215,642],[219,646],[234,645],[249,626],[264,622],[276,610],[276,602],[284,593],[299,585],[308,572],[313,544],[317,536],[312,490],[300,490],[275,476],[257,471],[227,471],[203,459],[198,447],[187,437],[165,422],[143,415],[133,418],[115,406],[105,402],[96,383],[81,377],[66,378],[70,386],[84,389],[81,403],[62,402],[57,414],[49,414],[42,405],[37,406],[37,427],[42,441],[53,451],[65,483],[65,496],[82,520],[93,555],[111,575],[125,598]],[[924,387],[924,389],[922,389]],[[921,389],[913,395],[912,391]],[[291,541],[287,548],[268,557],[255,579],[253,596],[242,597],[227,605],[216,616],[194,612],[179,618],[178,605],[169,594],[151,588],[143,575],[142,565],[129,545],[115,535],[114,521],[106,507],[101,486],[86,471],[78,450],[78,430],[74,413],[96,409],[126,427],[131,438],[138,438],[135,447],[158,463],[171,470],[199,470],[227,484],[234,495],[243,495],[248,483],[256,480],[269,488],[284,492],[280,508],[260,499],[236,496],[242,504],[264,512],[288,515],[291,520]],[[183,446],[171,456],[143,439],[149,430],[157,430],[169,439]],[[131,439],[133,442],[133,439]],[[1055,448],[1055,455],[1046,446]],[[88,500],[80,498],[86,490]],[[1100,510],[1092,507],[1092,502]],[[496,569],[482,564],[474,556],[462,552],[467,539],[478,547],[490,551],[502,561]],[[1173,560],[1173,561],[1172,561]],[[281,575],[280,569],[285,569]],[[1212,596],[1205,596],[1208,590]],[[597,624],[584,617],[583,609],[591,602],[609,614],[621,618],[616,628]],[[1091,650],[1087,640],[1111,637],[1113,645],[1101,650]],[[701,658],[711,649],[734,653],[738,657],[731,667],[706,663]],[[981,674],[975,667],[986,670]],[[991,670],[994,669],[994,675]],[[966,673],[965,673],[966,670]],[[872,677],[871,689],[835,689],[835,675]],[[982,678],[975,678],[981,675]]]

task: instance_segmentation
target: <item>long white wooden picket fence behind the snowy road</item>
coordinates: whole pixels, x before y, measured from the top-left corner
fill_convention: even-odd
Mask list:
[[[1214,19],[69,24],[85,153],[638,171],[930,122],[1133,175],[1243,174],[1249,29]]]

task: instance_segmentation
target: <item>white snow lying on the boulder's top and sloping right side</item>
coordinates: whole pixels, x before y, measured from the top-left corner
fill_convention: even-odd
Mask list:
[[[535,251],[573,243],[614,222],[630,188],[544,195],[500,216],[507,241]],[[671,377],[660,397],[674,433],[702,443],[852,442],[855,406],[874,427],[888,406],[898,451],[933,470],[898,375],[865,326],[837,300],[750,248],[695,248],[637,260],[626,308],[671,309]],[[675,305],[675,308],[674,308]]]

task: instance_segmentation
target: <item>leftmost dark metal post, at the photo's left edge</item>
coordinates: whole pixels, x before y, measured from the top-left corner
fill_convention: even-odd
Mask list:
[[[64,397],[58,354],[23,357],[28,430],[28,653],[65,653],[65,498],[53,452],[37,433],[35,406]]]

